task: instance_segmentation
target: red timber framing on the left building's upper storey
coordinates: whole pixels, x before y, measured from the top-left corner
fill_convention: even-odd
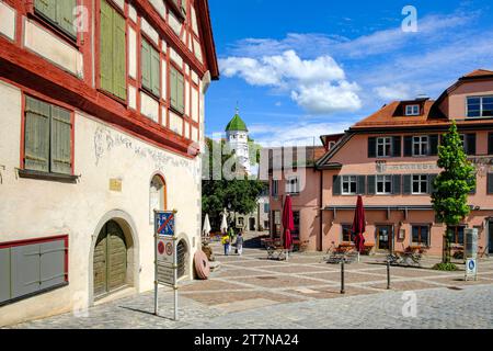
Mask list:
[[[188,2],[187,19],[184,19],[186,31],[193,31],[190,25],[190,5],[194,5],[198,16],[199,34],[202,43],[202,52],[205,53],[205,63],[202,64],[191,53],[179,36],[172,31],[172,29],[162,20],[161,15],[154,10],[154,8],[148,1],[130,1],[138,13],[138,23],[134,23],[128,15],[129,7],[127,1],[125,2],[124,11],[121,13],[125,16],[127,29],[131,27],[137,33],[137,77],[136,79],[128,77],[128,59],[126,60],[126,82],[127,89],[133,86],[137,90],[136,106],[138,111],[135,111],[128,106],[127,101],[118,100],[111,94],[98,89],[99,87],[99,8],[100,0],[78,0],[78,4],[87,5],[89,9],[89,23],[95,22],[93,36],[92,25],[90,24],[90,32],[79,33],[77,42],[59,33],[55,27],[45,23],[43,19],[39,19],[34,13],[34,0],[3,0],[9,5],[14,8],[18,12],[16,29],[15,29],[15,42],[11,42],[5,37],[0,37],[0,79],[14,84],[21,89],[21,91],[27,94],[32,94],[36,98],[45,100],[47,102],[58,104],[70,111],[80,110],[90,115],[93,115],[113,127],[129,133],[130,135],[138,137],[145,141],[148,141],[157,147],[164,148],[169,151],[179,154],[186,158],[195,158],[198,155],[198,146],[192,140],[197,136],[192,136],[192,128],[195,127],[199,131],[200,121],[192,121],[190,110],[185,112],[183,117],[183,128],[188,125],[190,131],[183,135],[190,136],[191,139],[184,136],[176,135],[174,132],[168,128],[170,125],[169,109],[170,109],[170,87],[167,87],[167,97],[159,99],[159,121],[153,122],[147,116],[140,114],[140,91],[141,91],[141,63],[140,63],[140,45],[141,37],[145,36],[140,31],[140,18],[144,15],[146,21],[158,32],[160,36],[157,48],[160,52],[161,59],[167,63],[167,77],[169,77],[169,70],[171,65],[174,65],[170,60],[170,48],[173,48],[183,58],[183,65],[179,68],[188,82],[190,90],[187,91],[190,99],[188,107],[192,104],[192,89],[196,89],[198,92],[198,104],[200,104],[199,87],[192,81],[191,70],[195,71],[199,79],[202,79],[207,70],[210,71],[214,80],[218,79],[219,71],[217,65],[217,58],[215,48],[207,47],[207,45],[214,45],[214,38],[211,37],[210,19],[208,13],[207,0],[195,0]],[[101,0],[102,1],[102,0]],[[113,4],[112,0],[107,0]],[[165,0],[172,2],[171,0]],[[117,9],[117,7],[115,7]],[[168,11],[171,11],[168,5]],[[76,76],[65,71],[57,67],[45,58],[34,54],[33,52],[24,48],[23,45],[23,19],[33,20],[44,29],[54,33],[62,38],[66,43],[69,43],[83,55],[83,79],[79,79]],[[168,20],[168,13],[165,14]],[[92,38],[94,37],[94,43]],[[186,36],[190,41],[191,36]],[[167,50],[162,53],[162,41],[167,43]],[[152,41],[149,43],[153,44]],[[156,45],[154,45],[156,46]],[[94,49],[94,53],[93,53]],[[93,63],[94,58],[94,63]],[[128,30],[127,30],[127,58],[128,58]],[[188,75],[185,71],[185,65],[190,67]],[[176,66],[176,65],[175,65]],[[161,65],[160,65],[161,70]],[[94,77],[94,81],[93,81]],[[162,91],[162,79],[161,91]],[[167,79],[169,84],[169,79]],[[128,100],[128,93],[127,93]],[[186,101],[184,99],[184,101]],[[165,115],[162,115],[163,109]],[[198,107],[200,109],[200,107]],[[199,118],[199,113],[196,112]],[[187,124],[186,124],[186,123]],[[199,133],[199,132],[198,132]],[[73,162],[72,162],[73,163]],[[22,165],[22,163],[21,163]]]

